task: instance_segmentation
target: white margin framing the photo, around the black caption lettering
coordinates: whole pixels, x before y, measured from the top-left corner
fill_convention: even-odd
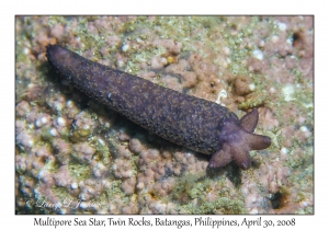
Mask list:
[[[9,2],[9,3],[8,3]],[[325,2],[325,1],[321,1]],[[68,0],[16,0],[1,4],[1,226],[3,229],[33,228],[34,216],[14,215],[14,15],[19,14],[315,14],[315,215],[314,216],[263,216],[276,220],[295,217],[298,229],[325,227],[328,221],[326,197],[328,183],[328,16],[326,4],[319,1],[276,0],[276,1],[68,1]],[[73,219],[76,216],[56,216]],[[105,216],[97,216],[105,219]],[[121,216],[125,218],[124,216]],[[132,216],[129,216],[132,217]],[[134,216],[138,218],[139,216]],[[174,219],[194,219],[194,216],[169,216]],[[212,216],[214,217],[214,216]],[[256,218],[248,216],[247,218]],[[79,216],[88,219],[90,216]],[[243,216],[225,216],[240,219]],[[10,227],[10,228],[5,228]],[[54,229],[54,227],[44,227]],[[76,227],[78,228],[78,227]],[[80,228],[80,227],[79,227]],[[107,227],[109,228],[109,227]],[[167,227],[168,228],[168,227]],[[257,227],[254,227],[257,228]],[[251,229],[254,229],[251,228]],[[60,228],[64,229],[64,228]],[[72,228],[70,228],[72,229]],[[111,228],[113,229],[113,228]],[[141,229],[141,228],[139,228]],[[232,229],[232,228],[231,228]],[[247,229],[247,228],[246,228]],[[282,228],[284,229],[284,228]],[[290,228],[292,229],[292,228]]]

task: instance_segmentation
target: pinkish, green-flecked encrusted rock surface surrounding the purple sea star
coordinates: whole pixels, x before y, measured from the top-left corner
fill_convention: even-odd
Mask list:
[[[313,214],[313,16],[18,16],[18,214]],[[271,148],[207,169],[90,100],[45,57],[86,58],[206,99],[258,108]]]

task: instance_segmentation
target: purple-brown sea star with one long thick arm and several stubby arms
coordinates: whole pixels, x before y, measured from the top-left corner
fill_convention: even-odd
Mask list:
[[[257,111],[239,120],[216,103],[90,61],[58,45],[47,47],[47,58],[65,79],[90,97],[167,140],[213,154],[211,168],[235,160],[241,169],[249,169],[249,150],[271,145],[269,137],[252,134]]]

